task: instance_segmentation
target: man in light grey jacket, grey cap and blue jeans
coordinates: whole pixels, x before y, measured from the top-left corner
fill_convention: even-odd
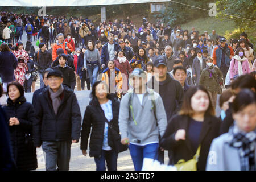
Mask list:
[[[146,86],[146,74],[135,68],[130,76],[133,90],[120,103],[121,143],[128,144],[135,171],[141,171],[143,158],[158,158],[159,135],[167,127],[162,98]]]

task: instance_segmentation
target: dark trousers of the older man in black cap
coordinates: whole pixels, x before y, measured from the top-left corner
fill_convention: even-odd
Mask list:
[[[71,144],[71,140],[43,142],[42,149],[46,152],[46,171],[56,171],[56,167],[59,171],[69,170]]]

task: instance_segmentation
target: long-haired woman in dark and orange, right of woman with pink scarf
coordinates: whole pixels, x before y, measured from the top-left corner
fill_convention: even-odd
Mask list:
[[[143,71],[146,71],[146,64],[148,61],[150,61],[150,59],[146,55],[146,50],[143,47],[140,47],[133,59],[130,60],[131,68],[141,68]]]

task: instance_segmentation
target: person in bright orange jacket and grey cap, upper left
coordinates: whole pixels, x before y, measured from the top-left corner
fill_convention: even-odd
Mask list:
[[[52,49],[52,60],[56,60],[57,57],[57,49],[62,48],[64,53],[67,55],[73,52],[73,47],[68,42],[64,42],[64,35],[62,33],[57,36],[58,42],[54,44]]]

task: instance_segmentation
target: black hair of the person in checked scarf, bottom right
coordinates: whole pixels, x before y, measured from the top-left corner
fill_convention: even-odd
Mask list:
[[[238,111],[245,109],[245,107],[250,104],[256,104],[255,93],[250,89],[243,89],[234,99],[232,104],[232,111],[237,113]]]

